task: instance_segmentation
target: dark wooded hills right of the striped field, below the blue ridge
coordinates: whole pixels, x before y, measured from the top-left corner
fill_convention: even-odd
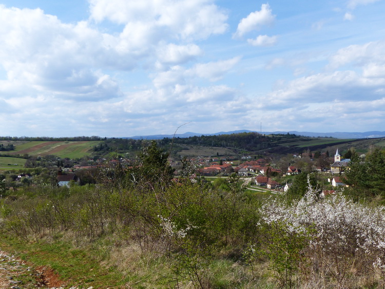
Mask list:
[[[106,153],[115,151],[125,153],[140,149],[147,140],[134,139],[107,139],[101,142],[95,151]],[[176,137],[156,140],[158,145],[169,151],[172,145],[173,156],[232,156],[232,155],[286,155],[287,153],[301,153],[305,150],[335,152],[337,148],[341,152],[351,147],[358,152],[365,153],[370,146],[385,147],[383,138],[377,139],[336,139],[336,138],[312,138],[296,134],[260,134],[257,132],[240,132],[232,134],[218,134],[213,136],[192,136],[188,138]]]

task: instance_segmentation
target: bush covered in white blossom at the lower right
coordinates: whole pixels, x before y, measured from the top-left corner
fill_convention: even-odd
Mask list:
[[[384,210],[354,203],[342,194],[324,198],[308,182],[308,190],[298,203],[270,200],[261,213],[265,225],[281,224],[282,236],[309,238],[306,246],[298,244],[301,254],[310,260],[302,268],[303,276],[332,277],[343,287],[348,276],[375,272],[385,276]]]

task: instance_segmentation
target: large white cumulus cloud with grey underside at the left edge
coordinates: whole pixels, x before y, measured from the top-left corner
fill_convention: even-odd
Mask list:
[[[119,96],[117,83],[95,68],[118,62],[103,59],[102,55],[111,52],[103,47],[103,34],[84,22],[63,24],[40,9],[3,6],[0,10],[4,15],[0,20],[0,45],[4,47],[0,61],[8,82],[22,82],[40,93],[78,100]]]

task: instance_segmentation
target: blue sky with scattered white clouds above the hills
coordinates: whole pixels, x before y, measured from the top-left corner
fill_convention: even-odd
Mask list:
[[[385,0],[0,0],[0,136],[385,130]]]

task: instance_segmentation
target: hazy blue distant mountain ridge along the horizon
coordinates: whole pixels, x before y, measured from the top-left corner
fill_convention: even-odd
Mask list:
[[[233,130],[233,131],[220,131],[216,133],[197,133],[197,132],[185,132],[185,133],[176,133],[176,138],[189,138],[189,137],[200,137],[200,136],[219,136],[220,134],[232,134],[232,133],[242,133],[242,132],[258,132],[262,134],[278,134],[278,133],[290,133],[297,134],[297,136],[304,137],[332,137],[336,139],[373,139],[373,138],[383,138],[385,137],[385,131],[367,131],[367,132],[308,132],[308,131],[253,131],[253,130]],[[152,136],[134,136],[134,137],[124,137],[122,139],[134,139],[134,140],[161,140],[164,138],[173,138],[174,134],[153,134]]]

